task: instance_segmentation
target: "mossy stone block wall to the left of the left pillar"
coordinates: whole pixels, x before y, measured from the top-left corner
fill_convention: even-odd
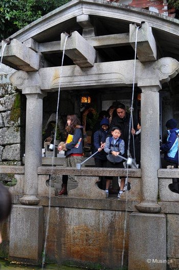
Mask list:
[[[25,153],[26,99],[10,84],[13,72],[5,65],[0,70],[0,165],[21,165]],[[12,178],[1,174],[1,181]]]

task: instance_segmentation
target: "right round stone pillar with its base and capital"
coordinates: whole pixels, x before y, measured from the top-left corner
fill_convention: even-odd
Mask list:
[[[139,84],[138,84],[139,85]],[[158,169],[160,168],[159,93],[160,84],[141,86],[141,187],[143,202],[140,212],[157,213],[161,207],[158,197]]]

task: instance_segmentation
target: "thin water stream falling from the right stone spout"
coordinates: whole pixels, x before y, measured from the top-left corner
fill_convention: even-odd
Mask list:
[[[130,107],[130,121],[129,121],[129,137],[128,137],[128,148],[127,148],[127,157],[129,157],[130,152],[130,132],[131,132],[131,124],[133,128],[133,96],[134,96],[134,90],[135,90],[135,76],[136,76],[136,55],[137,55],[137,41],[138,41],[138,30],[140,26],[136,27],[136,41],[135,41],[135,60],[134,60],[134,68],[133,68],[133,85],[132,85],[132,98],[131,98],[131,107]],[[133,137],[133,151],[135,151],[134,146],[134,137]],[[135,152],[134,152],[135,153]],[[134,158],[135,159],[135,158]],[[127,165],[127,182],[128,182],[128,164]],[[126,192],[126,201],[125,201],[125,218],[124,218],[124,235],[123,235],[123,248],[122,248],[122,258],[121,258],[121,268],[123,268],[124,264],[124,247],[125,247],[125,235],[126,235],[126,225],[127,225],[127,195],[128,192]]]

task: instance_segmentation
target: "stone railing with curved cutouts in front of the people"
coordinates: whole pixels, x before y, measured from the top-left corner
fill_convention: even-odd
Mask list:
[[[0,173],[14,174],[17,179],[17,184],[9,188],[11,194],[23,195],[24,194],[24,166],[0,166]],[[81,170],[76,168],[64,168],[62,166],[41,166],[38,167],[38,196],[49,196],[48,181],[50,175],[75,175],[77,182],[75,188],[69,191],[69,197],[81,198],[105,198],[105,192],[100,190],[96,183],[99,181],[99,176],[120,176],[126,177],[126,169],[111,169],[111,168],[93,168],[82,167]],[[160,169],[158,170],[159,178],[159,200],[161,202],[178,202],[179,194],[171,192],[168,185],[172,183],[172,178],[179,178],[178,169]],[[141,200],[141,170],[128,169],[128,181],[131,183],[132,188],[128,192],[129,200]],[[55,197],[55,189],[51,188],[51,196]],[[125,198],[125,193],[122,198]]]

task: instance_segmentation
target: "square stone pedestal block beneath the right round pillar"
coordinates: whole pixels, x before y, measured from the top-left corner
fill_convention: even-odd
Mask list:
[[[166,230],[164,214],[130,214],[128,270],[166,270]]]

